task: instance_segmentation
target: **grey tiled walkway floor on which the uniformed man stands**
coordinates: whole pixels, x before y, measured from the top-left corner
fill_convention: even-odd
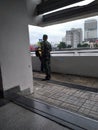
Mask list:
[[[34,77],[43,78],[41,73],[34,73]],[[60,75],[52,75],[52,80],[65,81],[65,77]],[[71,76],[70,76],[71,77]],[[61,79],[60,79],[61,78]],[[72,77],[71,77],[72,78]],[[70,78],[70,79],[71,79]],[[82,77],[81,77],[82,78]],[[87,79],[79,82],[77,78],[77,84],[87,85],[85,82]],[[71,79],[70,82],[73,80]],[[98,81],[96,79],[89,79],[89,87],[96,88]],[[94,83],[94,81],[96,81]],[[92,85],[93,82],[93,85]],[[84,84],[85,83],[85,84]],[[34,94],[29,96],[30,98],[36,98],[42,100],[51,105],[67,109],[69,111],[79,113],[81,115],[98,120],[98,92],[86,91],[83,89],[69,88],[68,86],[58,85],[48,81],[41,81],[34,79]]]

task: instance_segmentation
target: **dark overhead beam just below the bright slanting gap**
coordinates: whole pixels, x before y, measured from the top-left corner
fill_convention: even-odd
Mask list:
[[[70,19],[98,12],[98,4],[93,2],[89,5],[73,7],[71,9],[64,9],[62,11],[54,12],[43,16],[43,23],[59,22],[64,19]]]

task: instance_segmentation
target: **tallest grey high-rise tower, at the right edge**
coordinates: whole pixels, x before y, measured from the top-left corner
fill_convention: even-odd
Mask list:
[[[98,39],[98,22],[96,19],[86,20],[84,22],[84,40],[95,41]]]

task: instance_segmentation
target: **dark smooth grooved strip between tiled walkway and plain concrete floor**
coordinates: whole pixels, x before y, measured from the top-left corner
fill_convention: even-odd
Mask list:
[[[62,110],[16,93],[10,93],[8,98],[10,101],[72,130],[98,130],[98,121],[68,110]]]

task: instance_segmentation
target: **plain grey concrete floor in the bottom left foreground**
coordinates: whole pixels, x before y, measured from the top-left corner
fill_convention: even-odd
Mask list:
[[[14,103],[0,107],[0,130],[70,130]]]

